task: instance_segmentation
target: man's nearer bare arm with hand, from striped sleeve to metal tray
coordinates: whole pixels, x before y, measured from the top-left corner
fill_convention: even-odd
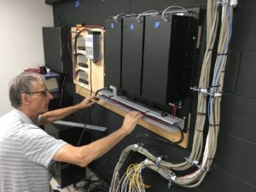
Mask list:
[[[121,139],[130,134],[137,125],[137,121],[141,118],[141,113],[128,113],[125,115],[125,120],[121,128],[108,135],[108,137],[103,137],[96,142],[82,147],[74,147],[73,145],[66,144],[56,152],[54,160],[72,163],[77,166],[87,166],[92,160],[96,160],[103,154],[106,154]]]

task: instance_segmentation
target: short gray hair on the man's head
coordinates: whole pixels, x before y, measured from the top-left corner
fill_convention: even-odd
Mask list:
[[[38,73],[20,73],[9,83],[9,101],[14,108],[21,105],[21,94],[32,92],[33,82],[45,84],[44,76]]]

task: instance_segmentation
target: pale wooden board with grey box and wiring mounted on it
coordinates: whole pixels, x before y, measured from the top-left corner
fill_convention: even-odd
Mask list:
[[[73,83],[96,92],[104,87],[104,31],[72,27]]]

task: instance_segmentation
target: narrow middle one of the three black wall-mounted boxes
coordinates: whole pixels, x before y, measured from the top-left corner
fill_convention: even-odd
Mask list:
[[[143,19],[144,17],[142,17]],[[141,95],[144,20],[123,18],[122,90]]]

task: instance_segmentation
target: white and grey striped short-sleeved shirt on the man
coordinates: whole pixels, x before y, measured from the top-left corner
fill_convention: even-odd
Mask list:
[[[18,109],[0,118],[0,191],[49,192],[48,166],[66,142],[49,136]]]

